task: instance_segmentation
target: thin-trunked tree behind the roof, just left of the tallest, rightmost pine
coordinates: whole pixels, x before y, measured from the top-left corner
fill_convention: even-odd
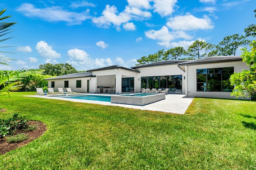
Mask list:
[[[205,41],[196,40],[192,45],[188,47],[188,55],[202,59],[208,56],[208,51],[212,50],[214,45],[206,43]]]

